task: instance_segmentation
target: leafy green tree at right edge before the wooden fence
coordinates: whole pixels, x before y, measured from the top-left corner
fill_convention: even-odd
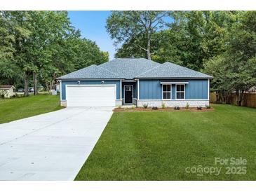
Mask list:
[[[236,91],[240,105],[244,92],[256,85],[255,25],[255,11],[241,15],[240,22],[230,27],[226,51],[204,64],[204,71],[215,77],[212,88],[217,92],[217,102],[227,102]]]

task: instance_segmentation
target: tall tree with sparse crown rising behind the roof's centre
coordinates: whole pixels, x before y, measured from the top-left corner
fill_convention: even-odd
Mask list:
[[[115,43],[133,43],[147,53],[151,60],[152,34],[167,25],[168,11],[113,11],[107,18],[107,32]],[[137,41],[143,39],[143,43]]]

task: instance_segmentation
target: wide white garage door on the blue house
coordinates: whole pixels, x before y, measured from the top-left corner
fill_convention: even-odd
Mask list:
[[[114,107],[116,85],[67,85],[67,107]]]

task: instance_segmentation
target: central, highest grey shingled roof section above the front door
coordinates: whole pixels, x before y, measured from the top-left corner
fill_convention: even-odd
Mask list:
[[[119,74],[126,79],[133,79],[138,74],[141,74],[144,71],[148,71],[149,69],[153,69],[154,67],[160,66],[158,62],[154,62],[151,60],[147,60],[144,58],[119,58],[116,60],[112,60],[109,62],[105,62],[100,64],[99,66],[112,71],[115,74]]]

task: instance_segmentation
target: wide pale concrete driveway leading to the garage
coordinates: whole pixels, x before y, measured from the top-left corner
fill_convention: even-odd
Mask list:
[[[73,180],[112,109],[68,107],[0,124],[0,180]]]

